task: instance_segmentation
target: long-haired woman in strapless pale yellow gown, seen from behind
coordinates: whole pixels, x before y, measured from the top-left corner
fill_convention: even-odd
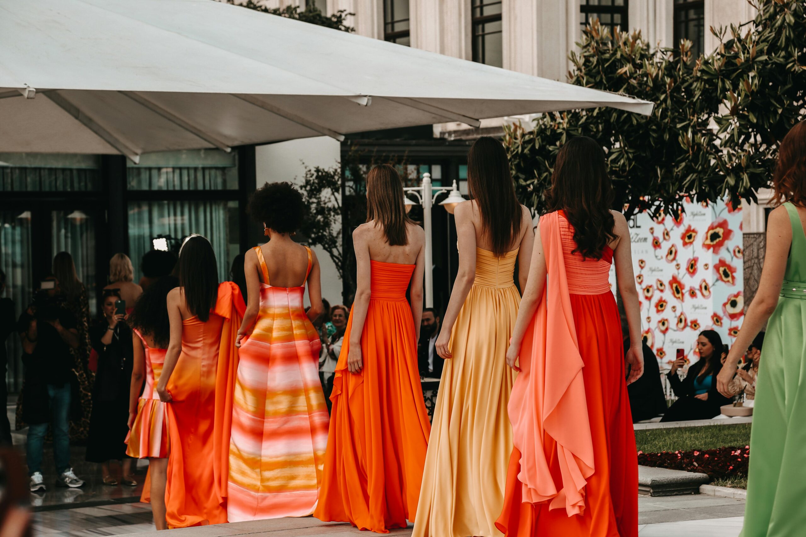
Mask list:
[[[413,535],[501,535],[515,374],[506,349],[532,249],[529,209],[517,202],[501,142],[484,136],[467,155],[471,201],[456,207],[459,272],[437,337],[442,381]],[[458,483],[462,485],[458,485]]]

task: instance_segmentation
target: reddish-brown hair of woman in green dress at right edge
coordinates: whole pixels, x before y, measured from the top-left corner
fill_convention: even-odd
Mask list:
[[[772,188],[779,204],[791,201],[798,207],[806,207],[806,121],[793,126],[783,137]]]

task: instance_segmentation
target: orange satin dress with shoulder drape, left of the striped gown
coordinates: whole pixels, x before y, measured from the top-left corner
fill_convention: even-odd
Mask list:
[[[182,321],[182,353],[168,380],[168,527],[226,523],[232,399],[243,312],[238,286],[224,282],[206,322]]]

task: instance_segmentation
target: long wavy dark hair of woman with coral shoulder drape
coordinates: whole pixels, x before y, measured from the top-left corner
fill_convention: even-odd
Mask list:
[[[612,205],[613,185],[607,175],[605,151],[593,138],[571,138],[557,154],[546,206],[549,213],[565,211],[574,228],[575,253],[601,259],[605,246],[616,238]]]

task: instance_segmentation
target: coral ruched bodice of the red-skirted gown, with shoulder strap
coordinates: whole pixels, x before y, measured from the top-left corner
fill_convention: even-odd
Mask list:
[[[572,295],[600,295],[610,291],[610,263],[613,250],[605,246],[601,259],[584,258],[574,252],[574,227],[565,214],[559,212],[559,233],[563,241],[563,261],[568,279],[568,292]]]

